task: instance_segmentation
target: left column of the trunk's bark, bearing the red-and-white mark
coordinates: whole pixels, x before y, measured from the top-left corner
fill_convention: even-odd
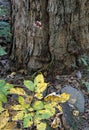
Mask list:
[[[40,68],[50,60],[47,1],[12,0],[13,49],[17,65]],[[34,26],[41,21],[46,28]]]

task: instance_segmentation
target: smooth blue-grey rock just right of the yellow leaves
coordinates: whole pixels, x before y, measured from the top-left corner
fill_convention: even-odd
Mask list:
[[[80,112],[84,112],[84,95],[80,90],[77,90],[76,88],[71,87],[70,85],[66,85],[61,92],[66,92],[71,95],[69,103],[75,106]],[[72,102],[75,101],[75,102]]]

